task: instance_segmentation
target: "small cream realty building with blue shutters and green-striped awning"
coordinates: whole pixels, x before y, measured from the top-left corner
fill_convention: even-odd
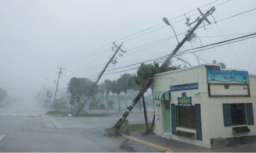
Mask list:
[[[211,148],[213,139],[256,135],[256,79],[248,72],[201,64],[156,74],[154,84],[158,136]]]

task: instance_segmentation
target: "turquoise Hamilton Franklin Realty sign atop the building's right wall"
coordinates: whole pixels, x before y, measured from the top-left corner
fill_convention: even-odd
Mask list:
[[[208,83],[239,83],[249,84],[246,71],[214,71],[208,70]]]

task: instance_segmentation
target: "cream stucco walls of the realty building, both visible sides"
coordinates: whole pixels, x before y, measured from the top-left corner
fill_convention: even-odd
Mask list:
[[[159,79],[165,78],[165,79]],[[240,136],[252,136],[256,135],[256,126],[248,125],[251,130],[250,133],[233,134],[232,126],[225,127],[223,121],[223,103],[253,103],[254,121],[256,119],[256,79],[250,77],[250,93],[251,97],[208,97],[208,82],[207,82],[207,69],[202,67],[196,67],[179,72],[172,72],[155,76],[155,93],[162,90],[170,90],[172,85],[182,85],[186,83],[198,82],[198,90],[182,90],[171,92],[170,104],[177,105],[177,97],[182,97],[182,93],[186,92],[187,97],[192,97],[192,104],[201,104],[201,125],[202,125],[202,141],[189,139],[186,137],[180,137],[172,135],[172,139],[183,141],[201,147],[211,148],[210,140],[216,137],[240,137]],[[223,85],[211,85],[212,95],[246,95],[247,89],[243,90],[243,87],[230,85],[229,89],[224,89]],[[199,92],[198,97],[195,98],[194,93]],[[158,136],[162,136],[164,132],[164,116],[163,116],[163,101],[155,100],[155,104],[160,104],[159,113],[160,119],[155,121],[155,132]],[[158,109],[155,107],[155,112]],[[170,116],[171,118],[171,116]],[[195,130],[177,128],[176,130],[183,130],[186,132],[194,132]]]

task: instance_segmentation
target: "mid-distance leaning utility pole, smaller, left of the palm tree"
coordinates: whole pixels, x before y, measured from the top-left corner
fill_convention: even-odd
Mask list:
[[[111,57],[111,59],[109,59],[108,63],[105,65],[104,69],[101,71],[101,74],[99,75],[97,81],[94,83],[93,87],[91,88],[90,92],[88,94],[92,94],[93,92],[93,89],[95,88],[95,86],[97,85],[97,83],[99,82],[99,79],[101,79],[102,75],[104,74],[106,68],[108,68],[108,65],[113,61],[113,59],[115,58],[116,56],[116,53],[118,53],[119,49],[122,51],[122,52],[126,52],[126,51],[123,51],[121,49],[121,46],[123,45],[123,42],[121,43],[120,46],[116,46],[115,42],[113,42],[113,45],[115,45],[116,47],[116,52],[113,54],[113,56]],[[122,54],[119,54],[119,56],[122,55]],[[81,105],[81,107],[79,108],[79,111],[77,111],[77,114],[80,113],[80,111],[82,110],[82,108],[84,107],[84,105],[86,104],[86,101]]]

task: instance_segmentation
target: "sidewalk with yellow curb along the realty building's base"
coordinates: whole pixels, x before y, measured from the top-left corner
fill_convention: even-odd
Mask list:
[[[248,142],[247,144],[241,144],[240,141],[243,141],[243,140],[237,140],[239,141],[239,143],[236,143],[236,144],[233,143],[234,141],[233,139],[228,140],[229,144],[226,145],[228,147],[224,147],[218,150],[211,150],[208,148],[199,147],[197,145],[183,143],[182,141],[166,139],[164,137],[157,136],[157,135],[141,136],[141,134],[139,134],[138,132],[131,132],[131,134],[129,135],[129,138],[134,141],[137,140],[138,143],[142,143],[150,147],[157,148],[158,150],[161,150],[161,151],[163,151],[163,148],[165,148],[166,152],[255,152],[256,151],[256,143],[255,141],[251,141],[255,139],[254,136],[247,138],[251,141],[251,142]]]

